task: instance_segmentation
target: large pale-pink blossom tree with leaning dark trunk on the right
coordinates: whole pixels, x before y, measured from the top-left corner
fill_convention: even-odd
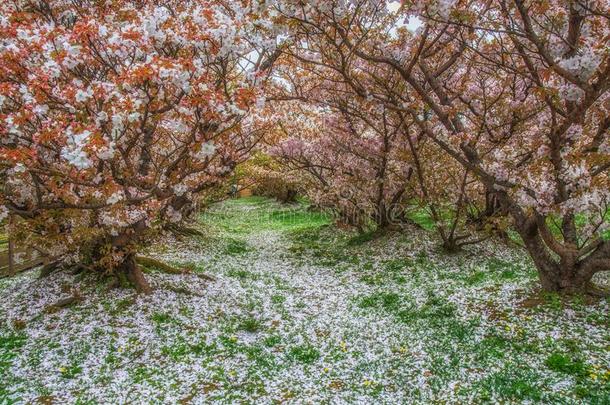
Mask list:
[[[608,3],[405,1],[397,13],[386,6],[292,3],[281,13],[308,44],[332,47],[343,66],[366,62],[373,78],[382,67],[401,78],[404,87],[390,92],[359,91],[408,114],[493,194],[543,289],[597,293],[592,277],[610,269],[602,237],[610,199]],[[414,16],[417,31],[396,28]]]

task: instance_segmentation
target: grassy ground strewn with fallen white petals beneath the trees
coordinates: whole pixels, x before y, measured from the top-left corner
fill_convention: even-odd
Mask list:
[[[536,293],[518,249],[356,235],[232,200],[150,255],[151,296],[0,280],[0,403],[609,403],[609,301]],[[598,280],[608,285],[607,278]],[[49,306],[78,288],[83,300]]]

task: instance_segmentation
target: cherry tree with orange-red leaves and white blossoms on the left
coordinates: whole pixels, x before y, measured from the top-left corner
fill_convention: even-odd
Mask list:
[[[24,243],[149,292],[144,236],[181,221],[262,135],[275,46],[264,13],[249,1],[3,2],[0,207],[21,218]]]

